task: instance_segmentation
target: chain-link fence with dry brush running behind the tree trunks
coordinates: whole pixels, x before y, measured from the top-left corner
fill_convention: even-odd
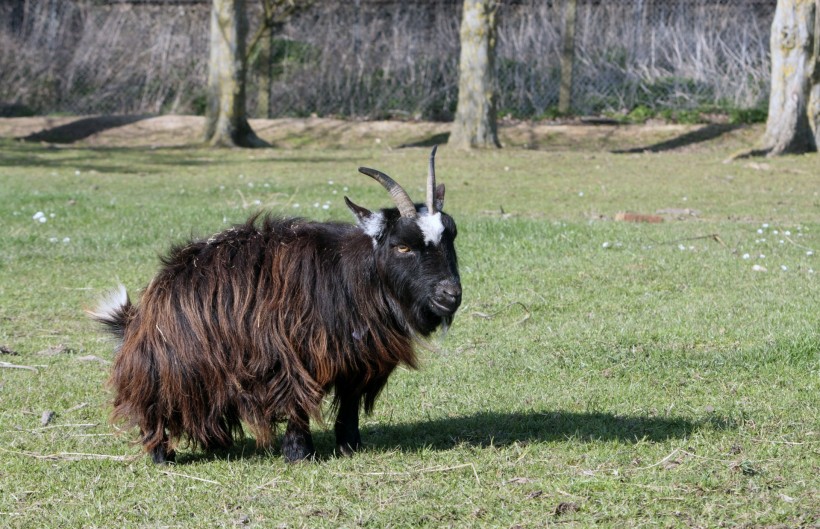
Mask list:
[[[248,3],[253,26],[258,6]],[[775,5],[578,0],[573,111],[764,108]],[[501,116],[554,113],[563,8],[501,3]],[[200,114],[209,9],[201,0],[7,0],[0,112]],[[460,0],[318,2],[251,51],[249,113],[451,119],[460,11]]]

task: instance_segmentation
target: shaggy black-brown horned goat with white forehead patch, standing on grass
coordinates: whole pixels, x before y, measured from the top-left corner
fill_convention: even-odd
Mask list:
[[[282,455],[299,461],[314,456],[310,419],[322,421],[332,389],[337,450],[358,450],[360,409],[373,410],[399,364],[417,367],[414,345],[461,304],[435,153],[425,204],[361,167],[396,207],[345,197],[356,224],[256,214],[173,247],[138,305],[120,285],[89,312],[118,339],[112,420],[139,427],[157,464],[183,439],[227,448],[244,423],[263,446],[287,422]]]

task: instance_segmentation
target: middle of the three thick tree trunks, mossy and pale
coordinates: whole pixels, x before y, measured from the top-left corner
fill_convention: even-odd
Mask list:
[[[449,144],[501,147],[496,123],[495,39],[496,0],[464,0],[458,106]]]

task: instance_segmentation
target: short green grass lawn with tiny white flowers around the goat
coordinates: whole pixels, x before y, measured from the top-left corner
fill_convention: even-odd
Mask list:
[[[427,150],[2,140],[0,361],[32,369],[0,369],[0,525],[817,526],[820,163],[728,154],[441,149],[464,303],[365,450],[316,425],[315,463],[246,441],[158,468],[107,423],[113,352],[83,308],[259,208],[388,205],[359,165],[420,197]],[[698,214],[612,220],[663,208]]]

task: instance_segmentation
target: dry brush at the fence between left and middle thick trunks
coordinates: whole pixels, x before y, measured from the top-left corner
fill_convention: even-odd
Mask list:
[[[450,119],[458,86],[456,6],[336,4],[292,20],[285,36],[314,54],[273,88],[277,114]]]

